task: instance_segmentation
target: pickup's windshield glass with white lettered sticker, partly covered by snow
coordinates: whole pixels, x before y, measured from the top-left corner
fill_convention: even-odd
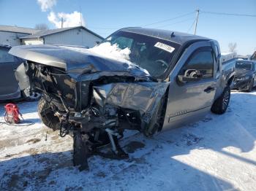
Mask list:
[[[117,31],[102,43],[110,42],[119,49],[129,49],[128,59],[146,69],[153,77],[160,77],[167,71],[179,44],[152,36]]]

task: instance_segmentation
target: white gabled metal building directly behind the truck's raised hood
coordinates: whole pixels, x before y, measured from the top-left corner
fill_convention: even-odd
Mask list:
[[[21,36],[21,44],[65,44],[82,47],[94,47],[102,41],[102,36],[83,26],[56,28],[39,31],[36,34]]]

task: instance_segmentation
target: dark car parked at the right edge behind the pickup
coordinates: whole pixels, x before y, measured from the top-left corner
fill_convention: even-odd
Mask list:
[[[252,91],[256,85],[255,61],[236,61],[236,72],[233,89]]]

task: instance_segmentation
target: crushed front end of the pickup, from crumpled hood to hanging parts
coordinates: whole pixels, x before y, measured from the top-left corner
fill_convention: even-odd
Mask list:
[[[91,155],[127,158],[118,144],[125,129],[146,136],[161,130],[167,82],[157,82],[137,66],[89,52],[73,52],[75,64],[65,58],[51,62],[48,51],[58,54],[60,49],[15,47],[10,53],[21,52],[28,60],[15,74],[20,88],[42,94],[38,112],[46,126],[59,130],[62,137],[73,136],[74,165],[80,165],[80,170],[88,168]],[[111,144],[113,155],[99,151],[106,144]]]

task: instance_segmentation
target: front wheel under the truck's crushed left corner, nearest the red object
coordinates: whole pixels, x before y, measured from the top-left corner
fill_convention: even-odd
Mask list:
[[[38,101],[38,115],[45,126],[53,130],[59,129],[59,118],[54,115],[50,104],[43,97]]]

